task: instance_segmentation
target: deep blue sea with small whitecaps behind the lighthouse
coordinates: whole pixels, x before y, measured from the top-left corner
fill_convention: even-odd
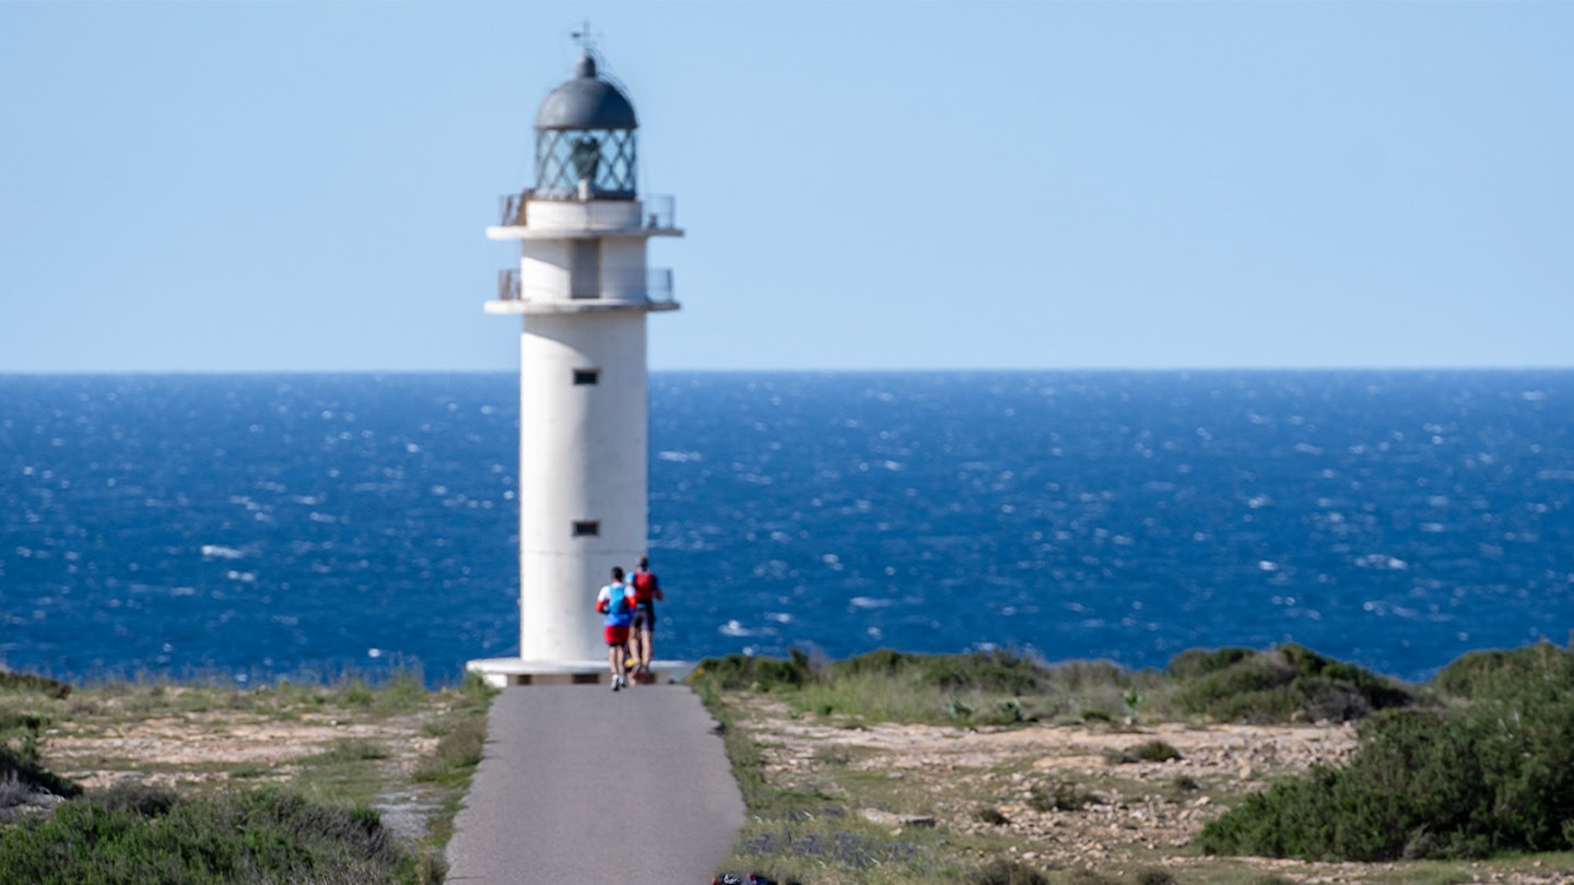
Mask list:
[[[518,654],[516,397],[0,376],[0,661]],[[1574,627],[1574,372],[656,373],[650,403],[663,657],[1295,641],[1421,680]]]

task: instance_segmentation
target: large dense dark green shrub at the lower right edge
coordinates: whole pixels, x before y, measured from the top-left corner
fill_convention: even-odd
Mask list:
[[[1199,847],[1363,861],[1568,850],[1574,663],[1563,655],[1544,679],[1500,690],[1511,696],[1374,717],[1343,768],[1248,797],[1203,828]]]

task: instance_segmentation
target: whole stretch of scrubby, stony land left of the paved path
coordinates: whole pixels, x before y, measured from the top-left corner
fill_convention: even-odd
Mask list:
[[[0,880],[439,883],[491,696],[0,672]]]

